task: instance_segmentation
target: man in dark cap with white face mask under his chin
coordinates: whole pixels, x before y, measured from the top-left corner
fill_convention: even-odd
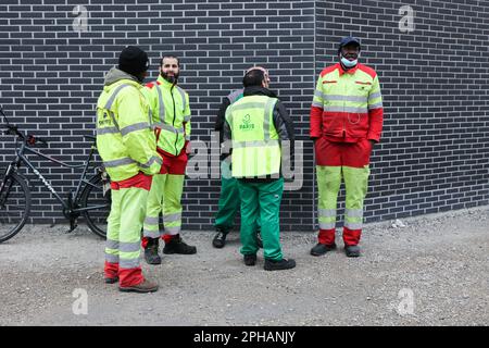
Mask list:
[[[347,191],[343,241],[348,257],[359,257],[363,201],[367,191],[372,148],[383,129],[383,97],[376,72],[358,62],[360,41],[346,37],[338,47],[339,62],[321,73],[311,107],[310,136],[314,140],[319,191],[317,245],[311,254],[336,248],[337,197]]]

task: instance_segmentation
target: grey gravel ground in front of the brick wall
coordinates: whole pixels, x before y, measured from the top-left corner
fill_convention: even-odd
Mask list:
[[[214,249],[213,232],[184,232],[198,253],[142,262],[160,284],[142,295],[103,283],[103,241],[85,226],[26,226],[0,245],[0,325],[488,325],[489,207],[402,223],[366,225],[358,259],[311,257],[315,233],[284,233],[298,266],[280,272],[261,253],[244,266],[237,233]]]

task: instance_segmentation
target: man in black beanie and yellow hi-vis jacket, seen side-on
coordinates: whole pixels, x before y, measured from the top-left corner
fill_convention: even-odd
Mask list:
[[[126,47],[118,66],[105,76],[97,101],[97,148],[111,178],[111,212],[105,245],[105,283],[121,291],[150,293],[158,284],[146,279],[139,264],[141,227],[152,175],[162,158],[150,127],[150,109],[141,89],[148,55]]]

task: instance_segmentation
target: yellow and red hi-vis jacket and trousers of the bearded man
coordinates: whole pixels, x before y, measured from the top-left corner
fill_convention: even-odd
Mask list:
[[[154,176],[148,196],[143,247],[148,238],[161,236],[166,243],[181,231],[180,201],[188,162],[186,145],[191,130],[189,98],[183,88],[159,76],[156,82],[147,85],[146,96],[163,165],[160,174]]]

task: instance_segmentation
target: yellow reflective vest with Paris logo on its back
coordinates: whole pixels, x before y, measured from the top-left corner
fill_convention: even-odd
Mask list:
[[[248,96],[227,108],[234,177],[260,177],[280,172],[280,144],[273,120],[276,102],[276,98]]]

